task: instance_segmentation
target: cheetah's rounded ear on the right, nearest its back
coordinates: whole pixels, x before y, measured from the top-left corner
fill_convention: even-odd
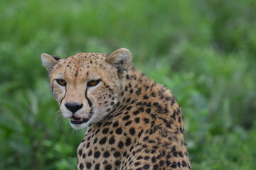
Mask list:
[[[117,68],[118,76],[121,79],[127,74],[127,69],[132,63],[132,53],[126,48],[119,48],[107,56],[106,62]]]

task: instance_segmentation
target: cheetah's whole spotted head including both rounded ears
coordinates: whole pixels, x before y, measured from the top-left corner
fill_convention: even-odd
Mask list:
[[[74,129],[81,129],[113,111],[132,55],[119,49],[110,55],[80,53],[59,59],[43,54],[41,59],[63,117]]]

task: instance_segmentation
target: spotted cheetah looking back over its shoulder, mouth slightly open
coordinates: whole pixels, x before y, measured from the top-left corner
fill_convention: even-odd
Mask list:
[[[63,117],[86,128],[78,169],[192,169],[176,98],[134,67],[129,50],[41,60]]]

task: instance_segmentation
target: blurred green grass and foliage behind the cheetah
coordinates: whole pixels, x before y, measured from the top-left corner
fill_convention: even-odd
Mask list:
[[[255,11],[255,0],[1,0],[0,169],[76,169],[85,130],[61,118],[40,55],[119,47],[178,98],[193,169],[255,169]]]

